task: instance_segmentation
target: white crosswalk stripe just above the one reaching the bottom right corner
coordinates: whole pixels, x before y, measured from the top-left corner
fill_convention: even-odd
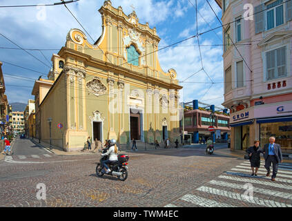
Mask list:
[[[209,183],[215,184],[217,186],[227,186],[227,187],[231,187],[233,189],[244,189],[244,185],[234,184],[234,183],[229,183],[229,182],[211,180]],[[257,187],[253,187],[253,192],[262,193],[265,195],[273,195],[276,197],[292,200],[292,194],[290,194],[290,193],[283,193],[280,191],[271,191],[269,189],[262,189],[262,188],[257,188]]]

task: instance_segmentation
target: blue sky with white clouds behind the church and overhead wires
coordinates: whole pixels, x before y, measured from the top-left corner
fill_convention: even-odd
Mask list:
[[[195,5],[195,0],[190,1]],[[221,18],[221,10],[215,1],[208,1],[218,17]],[[4,0],[0,2],[0,5],[46,4],[54,2],[59,2],[59,0]],[[80,0],[77,3],[68,4],[68,8],[79,19],[93,39],[97,39],[101,35],[101,15],[98,10],[103,3],[104,1]],[[188,0],[112,0],[112,3],[115,8],[121,6],[126,15],[132,12],[133,8],[131,6],[134,6],[140,23],[148,22],[150,28],[156,27],[157,33],[161,38],[159,47],[173,44],[196,34],[195,8]],[[206,0],[197,0],[197,3],[199,14],[208,21],[207,24],[198,15],[198,32],[209,30],[210,27],[220,26]],[[0,8],[0,33],[10,38],[22,48],[61,48],[66,42],[68,31],[71,28],[81,29],[81,27],[64,6],[48,6],[45,9],[43,11],[41,8],[36,7]],[[90,38],[88,37],[88,39]],[[222,28],[201,35],[199,41],[202,45],[222,44]],[[43,55],[39,51],[28,50],[32,55],[43,61],[43,64],[23,50],[4,49],[3,47],[17,48],[10,41],[0,36],[0,61],[10,62],[40,72],[34,73],[30,70],[5,63],[2,66],[8,102],[27,103],[28,99],[34,99],[31,95],[34,84],[33,79],[37,79],[40,75],[46,76],[48,74],[52,53],[57,53],[59,50],[43,50]],[[222,82],[222,46],[204,46],[201,47],[201,51],[206,73],[214,82]],[[202,68],[196,38],[161,50],[158,54],[159,62],[164,71],[167,72],[169,68],[174,68],[180,81]],[[207,82],[206,84],[181,84],[184,86],[181,97],[182,101],[190,102],[193,99],[199,99],[199,101],[208,104],[221,106],[224,101],[224,84],[213,84],[208,90],[211,84],[208,83],[210,79],[206,73],[200,71],[197,75],[186,80],[186,82]],[[26,79],[17,79],[12,77],[11,74],[21,75],[26,77]]]

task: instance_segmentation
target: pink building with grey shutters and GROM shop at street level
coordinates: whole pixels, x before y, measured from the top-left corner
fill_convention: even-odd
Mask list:
[[[231,149],[274,136],[291,151],[292,1],[215,1],[227,24],[222,105],[231,110]]]

